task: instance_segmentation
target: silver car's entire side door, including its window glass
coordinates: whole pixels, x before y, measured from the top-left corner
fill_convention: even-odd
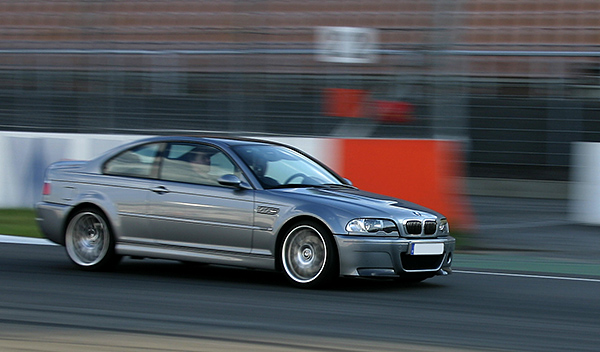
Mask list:
[[[199,159],[200,167],[195,165]],[[234,162],[213,146],[167,146],[149,195],[150,231],[158,245],[216,253],[251,251],[254,191],[220,185],[218,178],[226,174],[243,178]]]

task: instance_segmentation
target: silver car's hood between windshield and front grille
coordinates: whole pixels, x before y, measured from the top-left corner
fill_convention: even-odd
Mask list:
[[[328,206],[342,208],[352,212],[364,213],[363,216],[388,214],[390,217],[418,216],[438,217],[444,216],[434,210],[406,200],[384,196],[351,188],[290,188],[281,189],[288,196],[303,198],[304,200],[319,201]],[[417,214],[415,214],[417,213]]]

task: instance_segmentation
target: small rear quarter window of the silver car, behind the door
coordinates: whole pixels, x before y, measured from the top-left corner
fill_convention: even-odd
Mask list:
[[[119,176],[150,177],[160,144],[146,144],[127,150],[104,164],[104,173]]]

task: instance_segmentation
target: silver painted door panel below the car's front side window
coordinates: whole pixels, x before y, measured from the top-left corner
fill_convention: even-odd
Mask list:
[[[157,182],[149,192],[149,237],[157,244],[250,253],[254,190]]]

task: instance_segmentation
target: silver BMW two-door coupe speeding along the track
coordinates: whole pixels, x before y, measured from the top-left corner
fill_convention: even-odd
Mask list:
[[[89,270],[131,256],[279,270],[300,287],[414,282],[451,273],[455,247],[441,214],[249,139],[153,137],[54,163],[36,211],[44,235]]]

